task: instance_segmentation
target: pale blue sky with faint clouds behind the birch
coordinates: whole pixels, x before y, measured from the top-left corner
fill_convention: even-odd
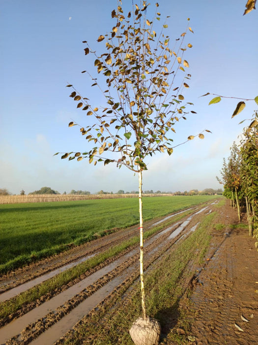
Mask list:
[[[200,96],[210,92],[252,99],[258,95],[258,12],[243,16],[245,3],[159,1],[161,18],[171,16],[167,29],[171,40],[185,31],[188,17],[194,31],[186,37],[193,45],[185,55],[192,78],[184,96],[195,104],[197,114],[179,125],[174,142],[204,129],[212,134],[178,146],[171,156],[160,154],[149,160],[143,190],[220,188],[216,175],[242,133],[245,123],[239,122],[251,118],[258,105],[248,102],[231,119],[237,100],[208,105],[212,96]],[[71,83],[94,103],[102,102],[90,89],[86,73],[81,73],[94,70],[82,41],[87,40],[98,53],[105,52],[96,39],[112,30],[111,11],[116,6],[115,0],[0,1],[0,188],[13,194],[43,186],[60,193],[137,190],[137,176],[126,168],[94,167],[86,160],[68,162],[53,156],[89,148],[75,127],[68,128],[70,121],[84,125],[85,118],[65,86]],[[127,13],[132,1],[123,1],[122,6]]]

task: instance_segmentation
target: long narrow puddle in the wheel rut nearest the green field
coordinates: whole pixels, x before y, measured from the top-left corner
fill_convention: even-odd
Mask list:
[[[54,271],[51,271],[49,273],[47,273],[46,275],[43,275],[43,276],[39,276],[35,279],[32,279],[24,284],[21,284],[19,286],[16,286],[14,287],[13,289],[10,289],[10,290],[7,290],[6,292],[3,292],[1,295],[0,295],[0,301],[7,301],[9,300],[10,298],[12,297],[15,297],[17,296],[19,293],[21,292],[24,292],[28,289],[30,289],[31,287],[39,284],[39,283],[42,283],[43,281],[49,279],[49,278],[52,278],[53,276],[57,276],[59,273],[65,271],[65,270],[68,270],[69,268],[71,267],[74,267],[82,262],[85,262],[86,260],[88,260],[89,258],[93,257],[94,255],[96,254],[92,254],[92,255],[88,255],[84,258],[81,258],[80,260],[78,261],[75,261],[75,262],[72,262],[68,265],[65,265],[65,266],[62,266],[62,267],[59,267],[58,269],[54,270]]]

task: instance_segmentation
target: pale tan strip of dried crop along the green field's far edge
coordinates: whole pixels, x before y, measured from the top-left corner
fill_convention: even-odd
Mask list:
[[[143,194],[144,197],[171,196],[172,194]],[[0,204],[46,203],[53,201],[80,201],[95,199],[137,198],[138,194],[30,194],[30,195],[1,195]]]

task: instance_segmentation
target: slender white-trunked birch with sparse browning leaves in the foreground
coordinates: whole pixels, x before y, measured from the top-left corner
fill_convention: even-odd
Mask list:
[[[61,154],[62,159],[86,159],[94,165],[115,163],[118,168],[124,166],[138,174],[143,311],[141,320],[145,324],[152,322],[146,315],[143,277],[142,181],[143,172],[147,170],[146,159],[157,153],[170,156],[173,148],[177,146],[173,143],[176,124],[186,120],[189,114],[196,116],[192,109],[194,104],[186,102],[184,96],[191,79],[191,74],[187,71],[189,64],[184,58],[186,51],[192,48],[192,44],[186,42],[187,34],[193,33],[189,26],[190,19],[187,19],[185,32],[171,40],[167,35],[166,22],[161,24],[159,34],[156,33],[156,26],[161,23],[159,4],[156,3],[152,19],[147,15],[148,7],[149,4],[141,1],[139,6],[136,4],[131,12],[125,14],[120,2],[117,9],[111,13],[115,22],[111,32],[97,38],[100,44],[105,44],[104,47],[102,45],[104,53],[97,54],[91,50],[88,42],[84,41],[85,55],[94,55],[97,78],[88,70],[82,73],[88,74],[92,79],[91,86],[98,88],[106,103],[92,104],[74,85],[67,85],[72,89],[70,97],[77,102],[77,108],[82,109],[86,116],[94,117],[94,121],[91,121],[91,124],[86,120],[86,125],[83,126],[75,121],[69,123],[69,127],[79,127],[81,135],[86,138],[91,148],[86,152]],[[104,77],[105,87],[99,81],[99,76]],[[182,143],[195,137],[203,139],[204,131],[186,136]],[[155,321],[154,324],[158,329]],[[154,341],[151,335],[148,337],[150,343],[137,343],[135,339],[134,342],[157,343],[157,339]]]

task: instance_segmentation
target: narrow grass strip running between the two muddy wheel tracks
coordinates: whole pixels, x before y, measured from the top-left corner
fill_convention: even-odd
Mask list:
[[[192,211],[186,211],[182,214],[172,217],[170,220],[167,220],[164,223],[161,223],[147,231],[144,232],[144,239],[147,239],[156,232],[164,229],[165,227],[171,225],[172,223],[177,222],[188,214],[191,214]],[[0,319],[7,317],[8,315],[18,311],[23,305],[29,304],[41,296],[46,295],[55,291],[57,288],[69,283],[71,280],[78,278],[88,270],[96,267],[105,260],[114,257],[120,254],[122,251],[126,250],[129,247],[134,246],[139,243],[139,236],[135,236],[121,244],[118,244],[103,253],[97,254],[96,256],[88,259],[86,262],[83,262],[73,268],[70,268],[62,273],[59,273],[57,276],[52,277],[39,285],[36,285],[29,290],[19,294],[17,297],[14,297],[8,301],[0,303]]]

